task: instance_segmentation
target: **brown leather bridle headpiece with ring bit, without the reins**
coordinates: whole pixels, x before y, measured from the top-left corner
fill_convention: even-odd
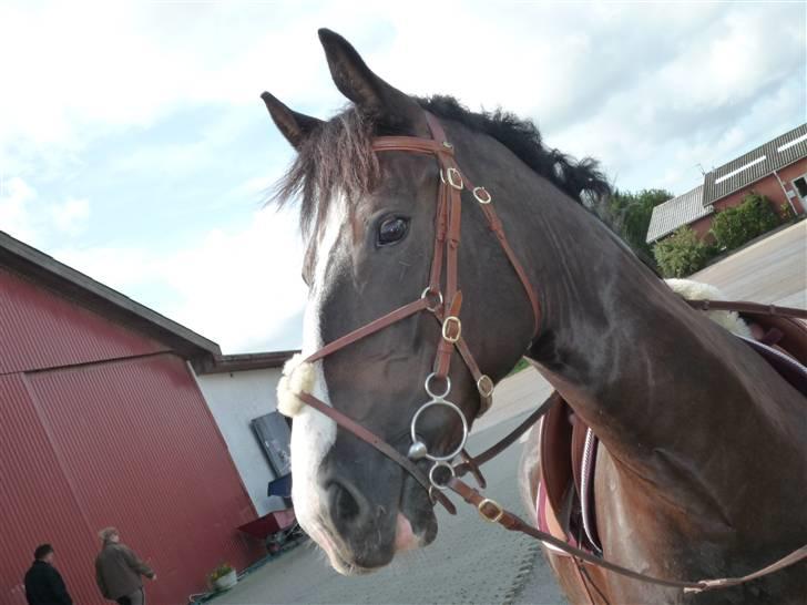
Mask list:
[[[337,410],[327,406],[323,401],[316,399],[310,393],[297,393],[297,396],[307,404],[316,408],[320,412],[333,418],[337,424],[346,428],[360,439],[371,443],[375,448],[391,458],[395,462],[404,466],[426,490],[432,501],[442,504],[451,514],[456,513],[453,504],[441,493],[448,484],[438,479],[439,469],[443,469],[450,475],[454,475],[454,468],[450,464],[457,455],[462,454],[467,461],[470,457],[464,454],[464,444],[468,439],[468,421],[462,411],[451,401],[447,399],[451,391],[451,379],[449,378],[449,369],[451,358],[454,350],[459,352],[464,361],[468,370],[473,377],[480,398],[480,408],[478,416],[487,411],[492,402],[493,381],[491,378],[482,373],[471,350],[462,337],[462,321],[459,312],[462,306],[462,293],[458,285],[458,253],[460,246],[460,227],[462,213],[462,192],[471,193],[473,199],[482,208],[483,215],[491,233],[499,240],[504,255],[512,265],[524,291],[530,300],[533,311],[534,322],[533,331],[538,331],[540,321],[540,308],[538,296],[530,284],[523,266],[515,257],[512,247],[504,236],[504,228],[501,221],[496,214],[491,204],[492,197],[484,187],[473,186],[468,177],[459,170],[454,160],[454,148],[448,142],[446,133],[440,122],[430,113],[425,113],[426,121],[431,131],[432,137],[417,136],[380,136],[374,140],[372,148],[377,153],[384,152],[410,152],[418,154],[432,155],[436,157],[440,170],[440,184],[437,195],[437,213],[435,218],[435,243],[433,254],[431,258],[431,268],[429,270],[429,281],[420,297],[398,309],[366,324],[365,326],[354,330],[341,338],[326,345],[318,351],[308,356],[305,362],[318,361],[345,347],[366,338],[384,328],[391,326],[402,319],[415,314],[427,311],[431,314],[438,321],[440,330],[440,339],[435,355],[435,361],[431,373],[423,382],[429,400],[423,403],[412,417],[410,425],[410,434],[412,444],[409,449],[408,457],[402,457],[395,448],[384,443],[380,438],[371,434],[369,431],[351,421],[349,418],[339,413]],[[445,287],[443,287],[445,273]],[[454,451],[448,454],[438,454],[430,452],[426,443],[418,437],[417,423],[423,411],[432,407],[442,407],[454,412],[462,424],[462,437],[459,445]],[[416,461],[426,458],[433,464],[428,473],[425,474],[417,465]],[[480,475],[481,476],[481,475]]]

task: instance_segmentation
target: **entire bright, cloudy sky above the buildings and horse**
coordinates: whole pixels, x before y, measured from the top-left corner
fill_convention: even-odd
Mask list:
[[[0,230],[224,352],[298,347],[296,216],[264,207],[294,153],[259,94],[345,105],[320,27],[405,92],[531,117],[621,189],[684,193],[807,120],[800,1],[7,0]]]

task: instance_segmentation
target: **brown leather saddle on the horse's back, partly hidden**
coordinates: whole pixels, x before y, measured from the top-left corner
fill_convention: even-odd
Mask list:
[[[759,341],[743,340],[807,397],[807,325],[765,311],[740,315],[764,332]],[[573,546],[600,552],[592,489],[597,445],[596,437],[586,443],[588,433],[589,427],[562,399],[541,420],[538,525]]]

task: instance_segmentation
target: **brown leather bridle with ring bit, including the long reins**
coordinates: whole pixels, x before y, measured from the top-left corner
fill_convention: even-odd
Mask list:
[[[807,545],[805,545],[774,564],[742,577],[703,580],[697,582],[657,578],[605,561],[588,551],[571,546],[564,541],[533,527],[514,513],[505,510],[496,501],[484,498],[479,491],[460,479],[466,473],[470,472],[476,478],[480,488],[484,489],[486,481],[479,470],[479,466],[515,442],[521,434],[523,434],[544,413],[546,413],[554,403],[556,403],[560,396],[558,396],[558,393],[550,396],[550,398],[534,412],[532,412],[521,424],[519,424],[519,427],[481,454],[472,458],[466,452],[464,445],[468,439],[468,421],[460,408],[447,399],[451,391],[451,380],[448,375],[454,350],[464,361],[477,384],[477,390],[479,391],[480,397],[478,416],[484,413],[484,411],[487,411],[490,407],[494,384],[488,375],[482,373],[479,365],[473,358],[473,355],[468,348],[468,343],[462,337],[462,322],[459,317],[462,305],[462,293],[458,285],[458,252],[460,245],[462,193],[464,191],[470,192],[479,207],[482,208],[482,213],[490,232],[498,239],[504,255],[510,262],[510,265],[527,293],[534,318],[533,338],[531,341],[534,340],[539,332],[541,324],[541,308],[537,293],[530,284],[523,266],[508,243],[503,225],[497,216],[491,203],[492,196],[484,187],[473,186],[468,177],[460,172],[454,158],[453,145],[449,143],[446,137],[442,125],[437,117],[430,113],[425,112],[425,116],[429,130],[431,131],[431,139],[418,136],[380,136],[374,140],[372,150],[377,153],[395,151],[426,154],[432,155],[437,160],[440,168],[440,183],[438,185],[437,212],[435,219],[435,246],[431,268],[429,271],[429,283],[418,299],[404,305],[402,307],[399,307],[340,338],[337,338],[309,355],[303,361],[304,363],[313,363],[321,360],[325,357],[408,317],[423,311],[430,312],[438,322],[440,339],[435,355],[432,371],[426,378],[423,383],[426,393],[430,399],[415,412],[410,422],[410,437],[412,443],[409,448],[408,454],[401,454],[396,448],[387,443],[380,437],[376,435],[374,432],[366,429],[345,413],[330,407],[309,392],[297,391],[294,394],[307,406],[330,418],[340,428],[349,431],[355,437],[372,445],[384,455],[398,463],[418,483],[420,483],[425,490],[428,491],[432,503],[439,502],[449,513],[456,514],[457,510],[445,494],[447,489],[457,493],[470,504],[473,504],[479,514],[486,521],[498,523],[510,531],[525,533],[544,542],[545,544],[551,544],[552,546],[571,554],[578,560],[585,561],[627,577],[652,584],[682,588],[684,592],[697,593],[743,584],[750,580],[768,575],[793,565],[803,558],[807,558]],[[442,276],[443,267],[445,288]],[[719,302],[712,302],[712,308],[719,308]],[[798,311],[798,309],[788,310]],[[442,390],[438,389],[440,381],[443,383]],[[462,437],[460,439],[460,443],[449,453],[438,454],[436,452],[429,452],[428,447],[423,443],[417,432],[417,423],[421,414],[432,407],[447,408],[457,413],[460,418],[462,424]],[[451,464],[457,457],[461,457],[463,461],[458,464]],[[432,462],[432,466],[428,474],[416,464],[421,459],[427,459]],[[445,472],[441,473],[443,476],[448,473],[448,480],[440,479],[438,475],[438,471],[440,469],[445,470]]]

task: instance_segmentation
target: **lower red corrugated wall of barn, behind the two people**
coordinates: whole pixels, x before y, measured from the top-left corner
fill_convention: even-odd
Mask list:
[[[105,525],[119,526],[157,572],[146,586],[153,603],[185,603],[222,561],[243,568],[259,556],[235,530],[254,509],[182,359],[163,353],[4,380],[16,403],[6,393],[0,402],[19,418],[14,439],[0,441],[3,473],[7,458],[18,460],[3,478],[3,512],[13,511],[3,516],[18,530],[11,541],[2,532],[0,602],[23,603],[19,574],[37,542],[49,541],[74,599],[103,603],[92,564]],[[3,422],[0,434],[8,430]]]

